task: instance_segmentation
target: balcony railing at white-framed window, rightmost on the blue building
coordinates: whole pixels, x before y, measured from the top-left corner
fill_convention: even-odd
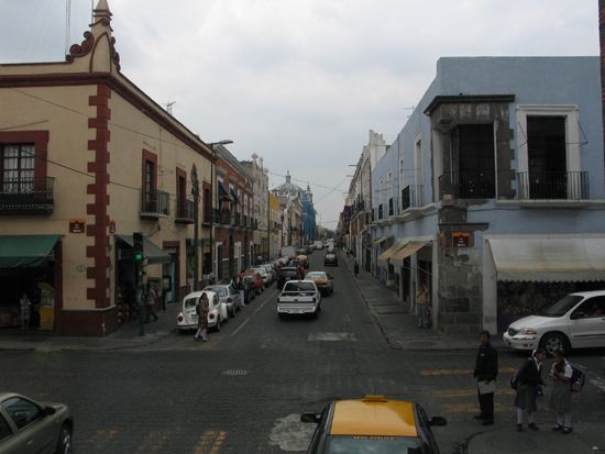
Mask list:
[[[586,200],[590,198],[587,171],[520,171],[521,200]]]

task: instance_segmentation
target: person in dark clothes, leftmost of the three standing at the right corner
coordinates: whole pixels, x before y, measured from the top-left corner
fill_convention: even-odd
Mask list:
[[[481,412],[475,419],[482,420],[483,425],[494,424],[494,394],[496,392],[496,377],[498,376],[498,352],[490,343],[490,331],[479,334],[481,345],[475,359],[473,376],[477,380],[477,396]]]

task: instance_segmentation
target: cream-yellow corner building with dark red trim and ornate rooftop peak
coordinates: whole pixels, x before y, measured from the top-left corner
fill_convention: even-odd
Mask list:
[[[26,294],[43,329],[117,330],[133,310],[133,232],[145,277],[179,298],[194,277],[194,166],[210,236],[211,150],[120,71],[110,22],[100,0],[66,62],[0,65],[0,325],[19,323]]]

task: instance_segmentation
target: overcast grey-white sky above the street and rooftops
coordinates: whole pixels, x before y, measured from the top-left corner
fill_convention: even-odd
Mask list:
[[[108,1],[127,77],[272,187],[310,182],[328,228],[369,130],[394,140],[440,56],[598,55],[597,0]],[[79,43],[91,1],[72,3]],[[0,0],[0,63],[63,59],[65,4]]]

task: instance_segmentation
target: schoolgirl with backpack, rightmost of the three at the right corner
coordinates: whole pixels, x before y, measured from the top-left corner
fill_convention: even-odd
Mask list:
[[[550,369],[552,378],[552,391],[550,395],[550,408],[557,413],[557,423],[552,428],[554,432],[569,434],[572,432],[571,427],[571,376],[573,370],[571,365],[565,359],[565,354],[562,350],[556,350],[552,353],[553,363]]]

